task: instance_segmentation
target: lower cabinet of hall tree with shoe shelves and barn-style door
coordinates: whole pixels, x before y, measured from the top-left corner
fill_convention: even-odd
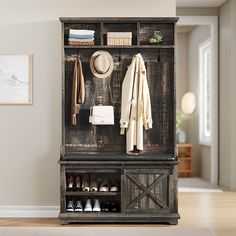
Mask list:
[[[101,162],[62,161],[62,180],[68,176],[94,174],[97,179],[116,179],[118,192],[67,191],[65,182],[61,188],[62,223],[169,223],[177,224],[177,161],[158,164],[151,161],[107,161]],[[63,173],[64,172],[64,173]],[[99,199],[117,201],[120,211],[112,212],[66,212],[65,203],[73,200]]]

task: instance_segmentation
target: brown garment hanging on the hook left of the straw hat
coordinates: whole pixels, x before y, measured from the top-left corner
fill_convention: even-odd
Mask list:
[[[85,88],[82,63],[79,58],[75,60],[71,97],[71,123],[76,125],[76,115],[79,114],[80,104],[84,102]]]

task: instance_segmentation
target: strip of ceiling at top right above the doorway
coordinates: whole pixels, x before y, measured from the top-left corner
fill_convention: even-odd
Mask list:
[[[219,7],[226,0],[176,0],[177,7]]]

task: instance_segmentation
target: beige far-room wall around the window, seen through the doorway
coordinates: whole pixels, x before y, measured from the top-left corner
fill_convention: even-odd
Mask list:
[[[177,108],[180,109],[184,93],[194,92],[199,95],[199,45],[210,37],[210,26],[196,26],[188,33],[177,34]],[[210,147],[199,144],[199,112],[184,122],[187,141],[193,144],[193,175],[210,180]]]

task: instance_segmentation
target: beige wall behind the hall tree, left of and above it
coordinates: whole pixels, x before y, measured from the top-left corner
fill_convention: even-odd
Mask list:
[[[135,4],[135,6],[134,6]],[[0,205],[58,205],[61,16],[175,16],[175,0],[1,1],[1,54],[33,54],[33,105],[0,106]]]

